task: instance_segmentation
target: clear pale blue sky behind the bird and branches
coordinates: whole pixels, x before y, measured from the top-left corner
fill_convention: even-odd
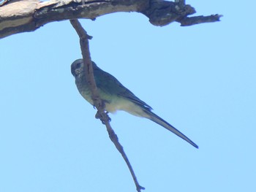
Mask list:
[[[150,120],[110,115],[140,185],[255,191],[255,1],[189,1],[221,22],[152,26],[135,12],[81,20],[91,57],[199,149]],[[135,191],[96,110],[78,93],[69,21],[0,40],[0,191]]]

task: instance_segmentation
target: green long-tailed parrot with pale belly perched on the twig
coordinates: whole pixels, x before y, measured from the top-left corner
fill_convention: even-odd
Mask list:
[[[151,112],[152,108],[144,101],[138,99],[129,89],[125,88],[116,77],[99,69],[93,61],[91,61],[91,64],[94,69],[94,79],[98,88],[99,97],[104,101],[107,112],[123,110],[141,118],[148,118],[198,148],[192,140],[154,114],[154,112]],[[83,59],[77,59],[72,63],[71,72],[75,77],[75,84],[78,87],[78,91],[84,99],[93,105],[91,91],[86,81],[86,74],[83,71]]]

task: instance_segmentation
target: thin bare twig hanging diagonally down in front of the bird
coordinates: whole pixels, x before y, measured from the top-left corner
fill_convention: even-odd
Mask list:
[[[132,174],[132,178],[135,182],[136,189],[138,192],[140,192],[142,189],[145,189],[145,188],[140,186],[140,184],[138,183],[135,172],[132,169],[132,165],[129,163],[129,159],[127,158],[126,153],[124,153],[124,148],[121,146],[120,142],[118,142],[118,137],[115,131],[113,131],[113,128],[111,128],[110,126],[110,122],[109,122],[110,118],[108,117],[108,114],[105,112],[105,105],[102,102],[102,100],[99,98],[97,85],[94,80],[94,72],[91,66],[91,55],[89,50],[89,39],[91,39],[91,37],[83,29],[83,27],[81,26],[78,20],[70,20],[70,23],[75,28],[75,31],[77,31],[78,36],[80,37],[80,47],[83,55],[83,65],[86,66],[84,69],[87,69],[87,70],[84,70],[86,73],[86,80],[89,83],[89,88],[92,93],[91,99],[93,99],[94,106],[98,110],[96,117],[102,120],[102,123],[105,124],[111,141],[113,142],[113,144],[116,146],[116,149],[119,151],[119,153],[121,153],[122,157],[124,158],[124,161],[126,162],[129,168],[129,172],[131,172]]]

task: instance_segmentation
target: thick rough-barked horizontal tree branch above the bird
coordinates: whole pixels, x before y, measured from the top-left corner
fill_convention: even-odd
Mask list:
[[[59,20],[95,18],[113,12],[140,12],[154,26],[174,21],[181,26],[218,21],[222,15],[188,18],[195,9],[184,0],[10,0],[0,5],[0,39]]]

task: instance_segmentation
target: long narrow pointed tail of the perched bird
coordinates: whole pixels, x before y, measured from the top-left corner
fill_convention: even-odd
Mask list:
[[[195,142],[192,142],[187,136],[181,133],[181,131],[178,131],[175,127],[167,123],[165,120],[154,114],[154,112],[146,111],[148,113],[149,117],[148,119],[154,121],[155,123],[159,124],[160,126],[163,126],[169,131],[172,131],[173,134],[176,134],[178,137],[181,137],[181,139],[184,139],[185,141],[189,142],[190,145],[193,145],[194,147],[198,148],[198,146],[195,144]]]

